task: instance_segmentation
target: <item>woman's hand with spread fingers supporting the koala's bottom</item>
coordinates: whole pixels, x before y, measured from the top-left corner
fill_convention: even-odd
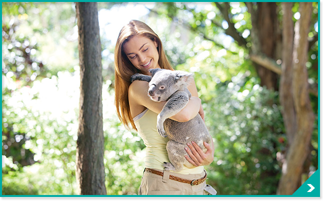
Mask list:
[[[207,149],[204,153],[202,149],[194,142],[192,141],[191,144],[187,143],[187,147],[185,147],[185,150],[189,157],[185,155],[186,160],[190,162],[191,164],[197,166],[201,165],[208,165],[213,161],[214,158],[214,144],[213,140],[211,140],[211,144],[203,142],[205,148]]]

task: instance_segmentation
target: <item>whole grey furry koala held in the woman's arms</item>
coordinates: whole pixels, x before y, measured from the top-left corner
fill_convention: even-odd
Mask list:
[[[162,137],[168,135],[166,149],[170,162],[164,162],[165,170],[180,171],[185,165],[188,168],[195,167],[184,157],[186,151],[184,147],[191,141],[201,147],[203,152],[206,148],[203,141],[210,144],[211,136],[206,125],[199,114],[186,122],[178,122],[170,119],[170,116],[179,112],[191,97],[187,85],[192,79],[192,74],[180,70],[150,69],[149,75],[136,73],[131,76],[134,80],[144,80],[149,82],[148,94],[154,101],[165,101],[164,107],[157,116],[157,130]]]

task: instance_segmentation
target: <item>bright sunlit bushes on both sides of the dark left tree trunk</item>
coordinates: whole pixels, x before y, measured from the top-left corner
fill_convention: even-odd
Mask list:
[[[2,156],[6,161],[2,167],[3,194],[76,193],[78,105],[75,102],[79,97],[78,74],[79,71],[59,72],[58,77],[36,80],[32,88],[24,86],[12,92],[10,97],[5,96],[7,104],[3,104],[4,113],[18,109],[26,111],[18,112],[25,115],[15,112],[11,112],[14,115],[5,115],[5,122],[16,125],[13,126],[17,127],[15,129],[25,133],[28,139],[22,147],[34,153],[36,163],[22,166],[19,160],[12,160],[12,155]],[[108,81],[103,84],[102,94],[107,193],[133,194],[137,192],[144,168],[144,145],[140,137],[125,130],[118,121],[113,105],[113,90],[108,92],[109,85]],[[36,91],[38,97],[34,98]],[[16,155],[19,154],[13,154]],[[21,178],[24,178],[24,182],[20,185],[24,187],[17,191],[15,184]]]

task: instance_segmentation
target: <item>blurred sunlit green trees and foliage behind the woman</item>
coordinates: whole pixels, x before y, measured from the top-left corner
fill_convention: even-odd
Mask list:
[[[318,169],[318,4],[310,5],[302,66],[309,85],[306,105],[314,118],[302,119],[312,130],[304,146],[308,152],[298,164],[302,170],[294,175],[296,188]],[[143,142],[124,129],[113,105],[113,49],[120,28],[131,19],[125,15],[147,23],[161,38],[173,66],[195,75],[215,145],[214,161],[205,167],[207,182],[218,194],[276,194],[295,133],[284,122],[286,99],[281,99],[280,87],[287,86],[287,93],[294,84],[285,85],[281,79],[288,75],[288,66],[291,72],[294,68],[286,67],[283,52],[286,44],[294,43],[294,26],[303,17],[301,6],[298,2],[98,3],[107,194],[137,193],[144,168]],[[287,13],[292,31],[284,33]],[[2,2],[3,194],[76,193],[75,17],[71,2]],[[291,38],[287,43],[284,34]]]

